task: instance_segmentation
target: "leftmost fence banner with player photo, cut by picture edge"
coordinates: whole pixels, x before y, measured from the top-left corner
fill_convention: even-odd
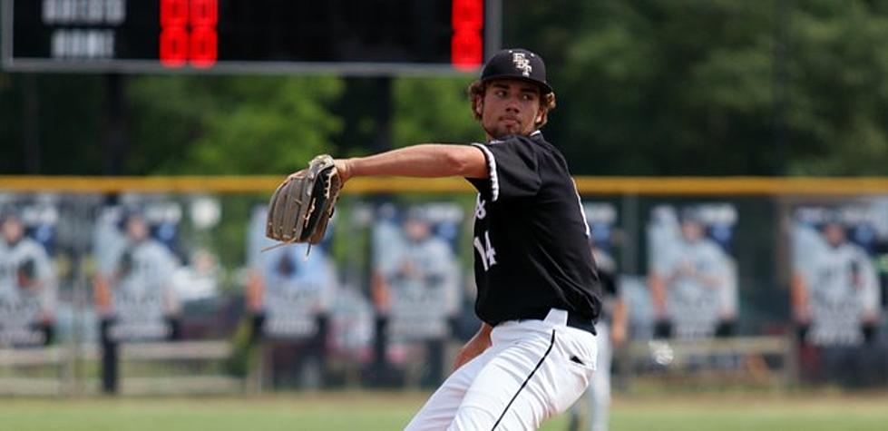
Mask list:
[[[52,205],[0,208],[0,347],[53,341],[58,283],[49,250],[57,220]]]

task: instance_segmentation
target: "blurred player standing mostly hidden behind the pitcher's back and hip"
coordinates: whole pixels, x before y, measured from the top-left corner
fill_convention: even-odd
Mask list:
[[[610,255],[597,247],[592,247],[592,256],[598,264],[601,279],[603,309],[601,318],[595,328],[600,336],[598,340],[598,368],[592,376],[592,382],[586,390],[589,403],[589,429],[591,431],[607,431],[608,413],[610,410],[610,364],[613,350],[626,340],[627,312],[626,302],[620,296],[620,284],[617,282],[617,262]],[[580,408],[571,408],[571,421],[568,429],[580,429]]]

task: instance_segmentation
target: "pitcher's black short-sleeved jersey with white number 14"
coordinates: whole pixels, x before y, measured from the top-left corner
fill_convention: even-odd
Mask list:
[[[598,274],[589,227],[567,162],[541,132],[473,144],[490,177],[479,191],[473,245],[475,312],[495,326],[566,309],[594,321]]]

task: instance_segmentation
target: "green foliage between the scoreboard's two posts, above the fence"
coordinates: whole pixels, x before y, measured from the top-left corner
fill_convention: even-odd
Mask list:
[[[132,171],[287,173],[333,152],[333,77],[145,77],[131,83]],[[162,96],[161,96],[162,95]],[[154,151],[150,151],[153,148]]]

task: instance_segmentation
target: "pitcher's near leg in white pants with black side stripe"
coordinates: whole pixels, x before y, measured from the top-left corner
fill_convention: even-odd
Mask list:
[[[494,328],[493,343],[508,347],[475,377],[448,429],[537,429],[588,386],[596,350],[590,333],[539,320],[503,327]]]

